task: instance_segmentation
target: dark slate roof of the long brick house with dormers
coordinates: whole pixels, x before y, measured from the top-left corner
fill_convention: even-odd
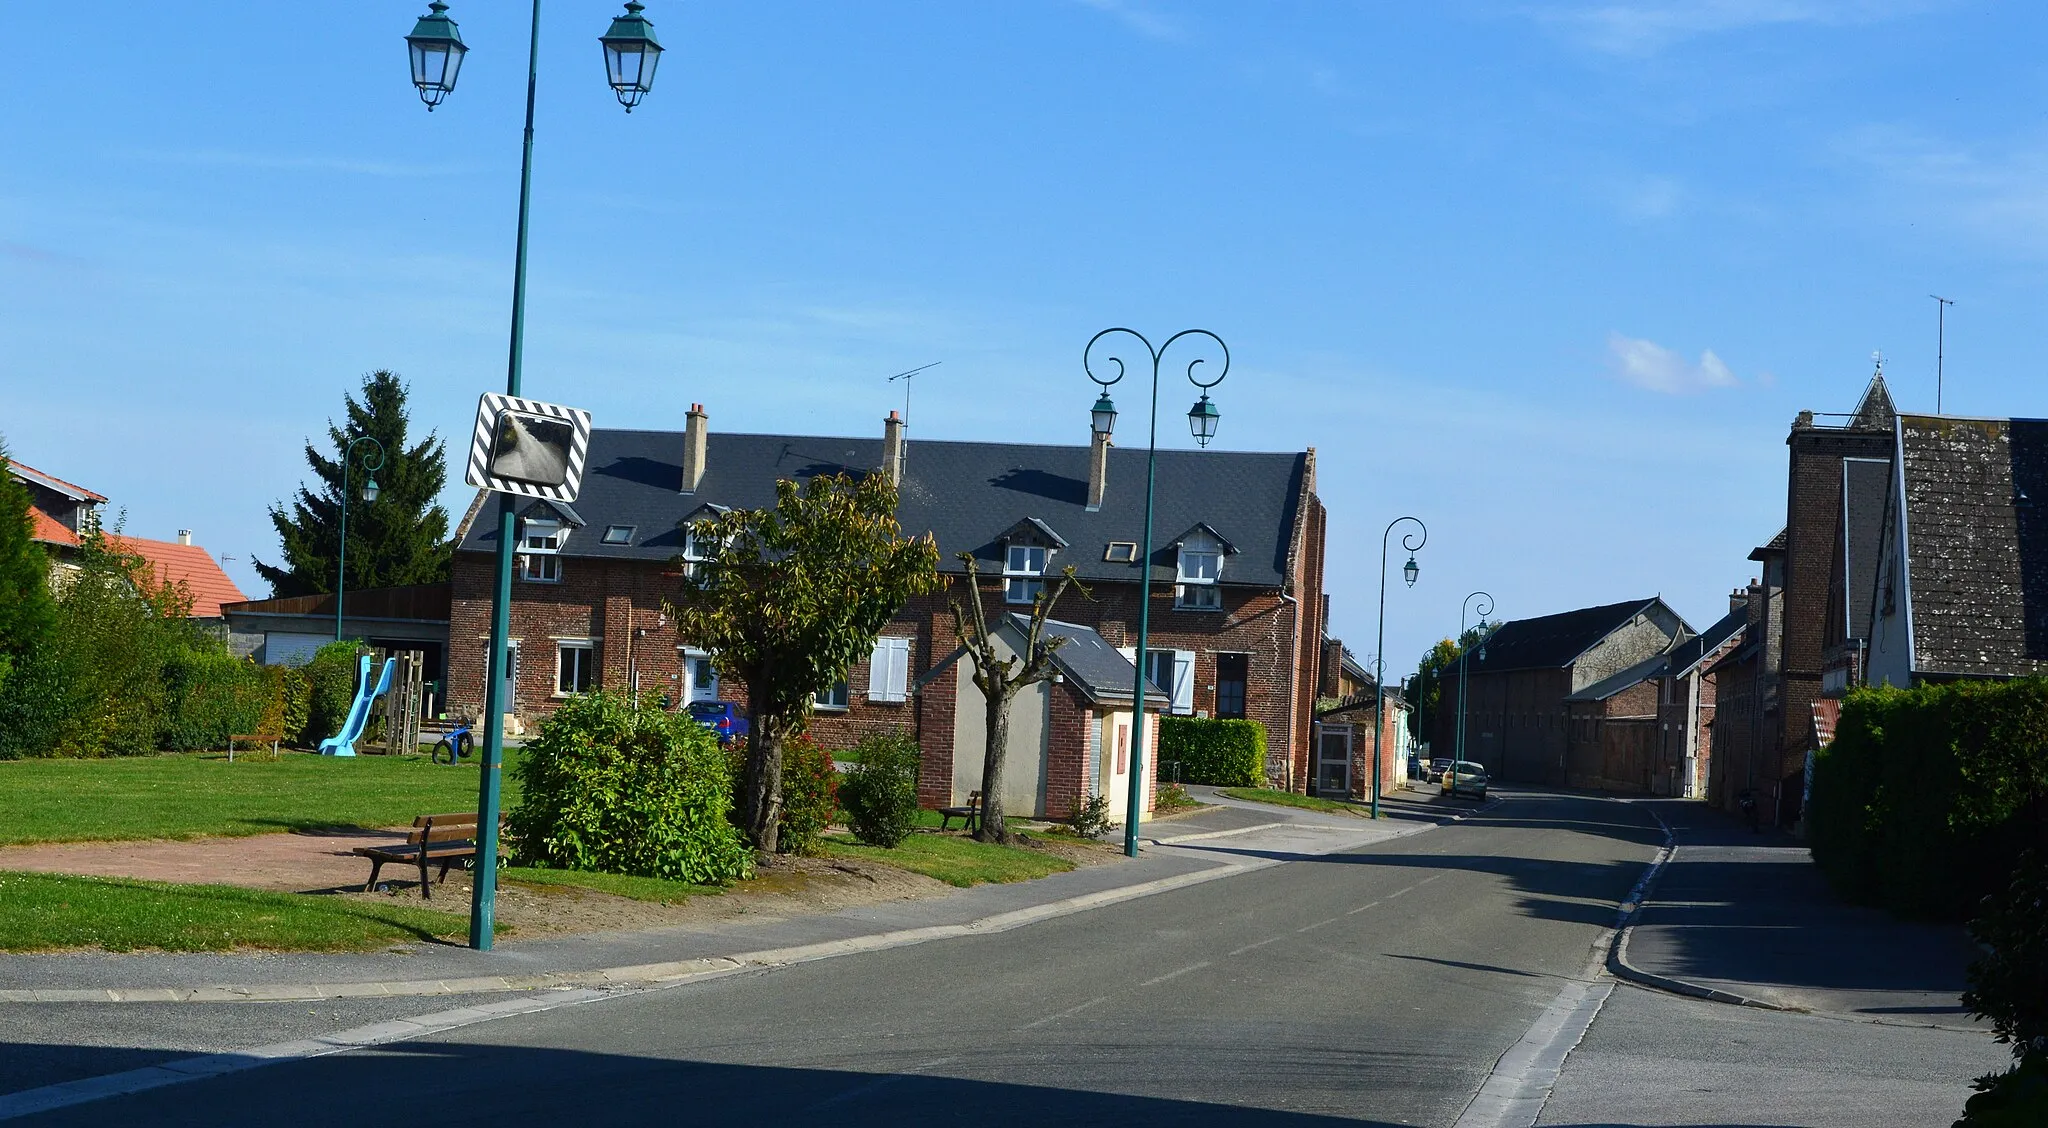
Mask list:
[[[881,438],[713,432],[707,444],[698,489],[680,493],[682,432],[594,430],[575,500],[588,528],[567,538],[563,555],[668,561],[682,551],[678,522],[705,504],[766,508],[776,479],[858,475],[883,461]],[[1307,452],[1159,450],[1153,577],[1171,581],[1171,538],[1206,524],[1235,549],[1221,583],[1284,588],[1307,467]],[[1104,553],[1110,540],[1139,540],[1145,450],[1110,448],[1102,510],[1085,506],[1085,446],[918,440],[907,446],[897,520],[905,534],[938,538],[944,571],[963,571],[952,557],[961,551],[995,565],[999,536],[1038,518],[1069,545],[1053,555],[1055,571],[1071,563],[1083,581],[1135,581],[1139,565],[1104,561]],[[631,543],[604,545],[612,524],[635,526]],[[494,551],[496,540],[496,520],[473,520],[461,549]]]

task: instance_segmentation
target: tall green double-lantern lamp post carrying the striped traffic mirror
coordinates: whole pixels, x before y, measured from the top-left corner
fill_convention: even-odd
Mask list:
[[[604,70],[618,104],[633,113],[653,84],[662,45],[653,25],[641,14],[639,0],[627,0],[625,14],[612,16],[610,29],[598,37],[604,45]],[[432,0],[406,45],[412,51],[412,84],[432,111],[455,90],[455,76],[469,47],[463,45],[449,4]],[[526,340],[526,215],[532,203],[532,102],[541,82],[541,0],[532,0],[526,35],[526,133],[518,164],[518,244],[512,254],[512,342],[506,358],[506,395],[520,393],[520,358]],[[504,774],[504,692],[508,669],[508,639],[512,635],[512,557],[514,557],[512,495],[498,497],[498,567],[492,596],[492,643],[483,671],[483,762],[477,766],[477,870],[469,901],[469,946],[487,952],[498,917],[498,798]]]

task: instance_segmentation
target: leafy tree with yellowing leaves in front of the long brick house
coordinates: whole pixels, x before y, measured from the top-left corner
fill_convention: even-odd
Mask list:
[[[776,483],[770,510],[731,510],[692,526],[711,559],[682,561],[676,628],[748,686],[739,825],[776,850],[782,745],[803,733],[819,690],[874,649],[897,610],[938,585],[938,547],[905,540],[883,475]]]

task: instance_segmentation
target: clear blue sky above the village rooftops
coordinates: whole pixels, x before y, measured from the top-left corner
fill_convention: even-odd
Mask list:
[[[111,4],[90,49],[72,6],[0,10],[0,434],[252,594],[365,371],[455,436],[504,379],[524,6],[453,0],[432,115],[420,10]],[[1219,446],[1319,450],[1356,653],[1382,526],[1430,524],[1397,669],[1475,588],[1710,622],[1798,409],[1851,409],[1878,348],[1933,407],[1929,293],[1946,407],[2048,414],[2032,4],[649,0],[631,117],[614,10],[545,14],[530,395],[870,434],[942,360],[913,440],[1083,442],[1096,330],[1210,328]]]

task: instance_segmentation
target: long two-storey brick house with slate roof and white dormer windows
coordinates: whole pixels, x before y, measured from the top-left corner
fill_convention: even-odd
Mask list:
[[[719,434],[692,405],[682,432],[592,432],[573,506],[516,506],[522,555],[506,694],[514,719],[537,721],[567,694],[596,688],[657,692],[672,706],[743,702],[739,686],[721,686],[715,657],[678,637],[664,614],[662,600],[696,553],[686,524],[723,508],[770,506],[778,479],[829,473],[889,473],[903,532],[938,540],[950,581],[965,575],[954,553],[977,557],[991,622],[1028,608],[1047,575],[1073,565],[1092,596],[1069,592],[1055,616],[1120,653],[1133,647],[1143,450],[1108,440],[905,444],[893,411],[879,438]],[[1325,626],[1327,514],[1315,493],[1315,450],[1161,450],[1157,483],[1147,674],[1171,712],[1260,721],[1268,782],[1300,788]],[[471,506],[455,553],[449,700],[457,712],[483,708],[498,547],[498,522],[477,520],[487,510]],[[965,678],[946,663],[954,649],[946,596],[913,600],[866,661],[819,686],[811,733],[848,747],[868,731],[909,729],[924,747],[924,798],[965,798],[965,776],[954,772]],[[1128,710],[1128,690],[1122,704]],[[979,743],[963,755],[979,766]],[[1065,815],[1055,798],[1044,794],[1042,813]]]

